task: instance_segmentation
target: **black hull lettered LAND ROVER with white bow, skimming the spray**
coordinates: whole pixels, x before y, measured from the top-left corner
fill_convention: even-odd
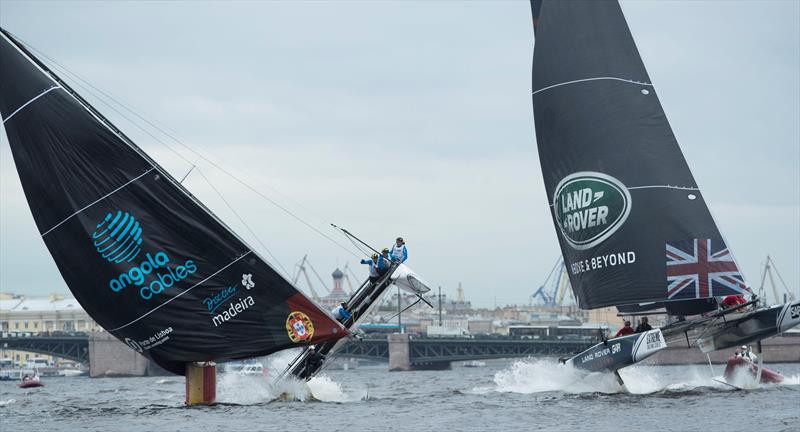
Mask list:
[[[590,372],[616,372],[667,347],[661,330],[622,336],[601,342],[565,362]]]

